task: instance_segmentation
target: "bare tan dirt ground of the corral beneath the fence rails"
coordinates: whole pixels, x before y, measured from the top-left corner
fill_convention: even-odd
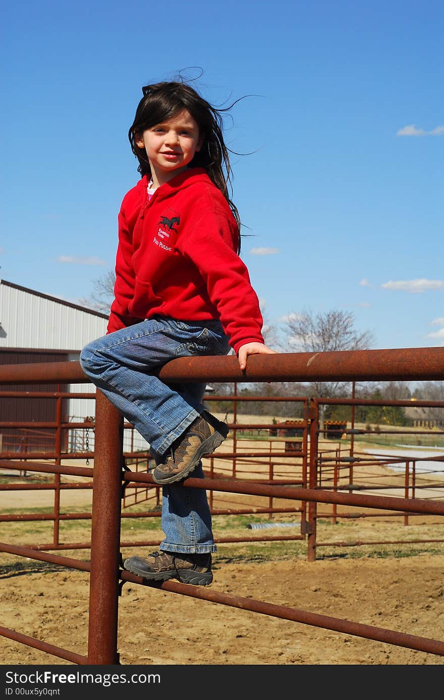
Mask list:
[[[8,492],[8,508],[31,509],[50,503],[51,498],[46,491]],[[69,498],[69,505],[78,506],[87,503],[90,493],[70,491]],[[285,516],[275,519],[285,521]],[[218,524],[216,518],[216,539],[218,534],[227,534],[218,532]],[[444,540],[444,523],[438,518],[416,519],[408,527],[399,517],[341,521],[336,529],[329,521],[323,527],[327,541]],[[1,539],[24,543],[18,528],[17,523],[2,524],[5,534]],[[252,531],[248,533],[252,535]],[[245,529],[229,534],[245,535]],[[268,534],[287,535],[289,529],[275,528]],[[85,541],[76,540],[76,531],[72,536],[70,542]],[[162,532],[150,531],[149,536],[160,540]],[[322,536],[318,524],[318,541],[322,541]],[[28,537],[27,542],[30,541]],[[136,551],[148,553],[155,548]],[[442,542],[382,549],[385,552],[378,554],[370,545],[320,548],[317,561],[309,563],[306,542],[290,540],[275,551],[269,542],[253,548],[238,543],[221,544],[213,558],[214,580],[208,589],[444,640]],[[123,552],[124,556],[135,553],[132,548]],[[59,554],[89,559],[85,549]],[[19,561],[22,568],[15,566]],[[87,654],[89,575],[44,562],[23,563],[10,554],[1,554],[0,567],[1,625]],[[441,665],[444,658],[128,582],[119,598],[118,647],[120,664],[129,666]],[[0,637],[0,664],[71,662]]]

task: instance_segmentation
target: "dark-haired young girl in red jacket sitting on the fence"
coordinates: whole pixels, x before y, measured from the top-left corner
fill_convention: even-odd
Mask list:
[[[202,405],[205,384],[164,384],[159,367],[177,357],[226,355],[241,369],[264,344],[262,315],[238,253],[240,221],[229,198],[222,116],[185,83],[143,87],[129,130],[141,180],[125,195],[107,334],[80,364],[150,444],[162,489],[160,552],[124,568],[149,580],[209,584],[216,551],[201,458],[229,428]]]

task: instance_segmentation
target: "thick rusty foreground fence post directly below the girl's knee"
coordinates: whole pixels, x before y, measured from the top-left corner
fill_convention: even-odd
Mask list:
[[[96,392],[92,488],[89,664],[118,664],[117,615],[122,498],[123,420]]]

